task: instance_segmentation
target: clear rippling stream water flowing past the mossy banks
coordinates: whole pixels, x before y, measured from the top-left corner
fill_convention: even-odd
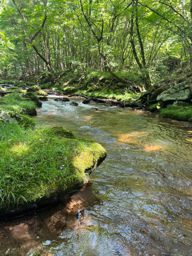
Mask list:
[[[69,103],[44,102],[39,124],[93,139],[108,157],[65,203],[3,223],[0,255],[192,255],[192,128]]]

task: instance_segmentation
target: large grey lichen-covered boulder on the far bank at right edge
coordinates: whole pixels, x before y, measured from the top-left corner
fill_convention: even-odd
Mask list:
[[[157,101],[163,106],[172,104],[174,101],[190,102],[191,99],[191,84],[186,84],[186,82],[169,88],[157,97]]]

